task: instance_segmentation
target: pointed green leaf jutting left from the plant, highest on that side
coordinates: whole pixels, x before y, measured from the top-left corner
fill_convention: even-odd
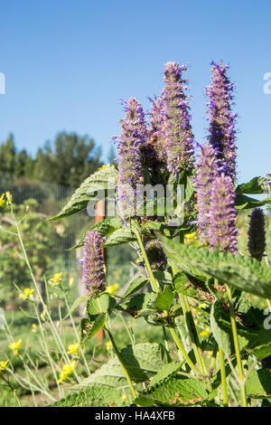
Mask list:
[[[51,217],[50,221],[60,220],[64,217],[68,217],[71,214],[79,213],[79,211],[85,210],[89,203],[97,203],[97,194],[100,190],[105,190],[105,196],[107,196],[108,182],[112,180],[110,189],[114,188],[113,182],[117,178],[117,170],[112,167],[103,168],[98,170],[93,175],[90,175],[72,194],[69,203],[62,208],[61,213],[58,213],[54,217]],[[112,187],[111,187],[112,186]],[[94,194],[94,195],[93,195]]]

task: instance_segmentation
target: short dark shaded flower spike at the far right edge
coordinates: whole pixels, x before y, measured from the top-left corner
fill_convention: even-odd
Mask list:
[[[265,214],[256,208],[249,217],[248,250],[251,257],[261,261],[266,250]]]

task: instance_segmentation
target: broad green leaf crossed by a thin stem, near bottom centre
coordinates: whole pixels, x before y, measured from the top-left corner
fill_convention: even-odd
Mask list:
[[[121,350],[120,355],[133,382],[148,381],[164,364],[170,361],[164,345],[156,343],[128,345]],[[82,380],[79,386],[89,386],[93,383],[115,388],[127,386],[126,376],[117,356],[110,359],[107,364],[104,364],[88,378]]]

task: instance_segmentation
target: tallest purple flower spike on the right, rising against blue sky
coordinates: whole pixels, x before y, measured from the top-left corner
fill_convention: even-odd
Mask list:
[[[222,66],[211,62],[211,84],[206,88],[210,97],[209,112],[209,140],[214,147],[221,173],[236,177],[236,114],[231,109],[233,105],[233,84],[229,82],[228,65]]]

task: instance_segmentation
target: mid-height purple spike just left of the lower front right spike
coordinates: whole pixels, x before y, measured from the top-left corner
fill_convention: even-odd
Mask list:
[[[213,147],[206,143],[201,146],[201,153],[197,162],[197,200],[198,200],[198,228],[200,240],[203,243],[209,242],[209,222],[210,222],[210,192],[214,179],[218,177],[217,158]]]

